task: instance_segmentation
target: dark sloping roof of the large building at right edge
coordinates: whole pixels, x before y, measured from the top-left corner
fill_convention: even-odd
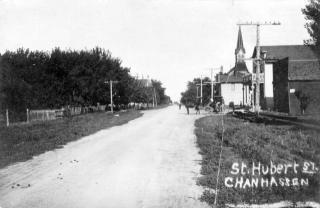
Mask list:
[[[261,53],[265,53],[266,63],[288,59],[289,80],[320,80],[320,55],[312,46],[261,46]],[[256,47],[252,57],[256,57]]]

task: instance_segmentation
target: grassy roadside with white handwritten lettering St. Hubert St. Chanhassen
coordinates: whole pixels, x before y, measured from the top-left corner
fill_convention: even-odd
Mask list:
[[[195,123],[197,143],[203,158],[203,177],[199,184],[206,187],[202,200],[209,204],[213,204],[215,198],[222,143],[221,121],[222,116],[217,115],[198,119]],[[258,166],[259,162],[261,166]],[[253,169],[253,164],[256,169]],[[243,167],[243,172],[240,167]],[[263,173],[262,169],[258,172],[257,167],[259,170],[260,167],[265,167],[266,172]],[[279,168],[279,172],[272,172],[271,170],[277,169],[271,167]],[[319,132],[290,125],[249,123],[232,116],[224,116],[217,200],[220,206],[230,203],[264,204],[283,200],[292,203],[309,200],[319,202],[319,169]],[[249,182],[244,185],[247,180]],[[308,184],[303,183],[306,181]]]

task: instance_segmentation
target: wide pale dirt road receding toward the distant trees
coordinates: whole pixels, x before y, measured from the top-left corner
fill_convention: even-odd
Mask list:
[[[207,207],[196,185],[199,116],[177,106],[144,112],[0,170],[0,207]]]

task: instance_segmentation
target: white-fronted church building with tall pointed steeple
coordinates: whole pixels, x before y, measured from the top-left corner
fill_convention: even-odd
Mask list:
[[[249,87],[243,85],[243,77],[250,74],[245,63],[246,50],[243,46],[241,28],[238,31],[237,46],[235,49],[235,66],[227,73],[220,72],[216,76],[218,94],[222,96],[226,105],[233,102],[235,105],[250,103]]]

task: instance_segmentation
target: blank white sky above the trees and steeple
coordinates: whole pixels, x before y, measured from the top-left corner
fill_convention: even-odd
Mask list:
[[[309,38],[306,0],[0,0],[0,52],[100,46],[133,75],[161,80],[173,100],[210,67],[234,65],[239,21],[280,21],[261,28],[262,45]],[[242,27],[246,56],[256,28]],[[247,63],[251,68],[251,63]]]

